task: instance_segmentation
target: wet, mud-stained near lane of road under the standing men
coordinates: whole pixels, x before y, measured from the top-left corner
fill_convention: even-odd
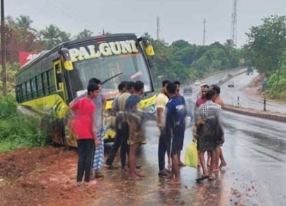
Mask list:
[[[149,121],[148,144],[140,149],[138,160],[147,177],[128,181],[120,170],[104,170],[96,189],[100,198],[91,205],[286,205],[286,124],[225,111],[222,116],[228,165],[215,181],[197,184],[200,171],[188,167],[181,168],[181,185],[158,177],[159,131],[156,122]],[[187,128],[182,160],[192,138]]]

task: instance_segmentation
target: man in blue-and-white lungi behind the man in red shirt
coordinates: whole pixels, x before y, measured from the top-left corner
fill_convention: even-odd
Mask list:
[[[92,78],[89,80],[89,84],[90,83],[97,84],[101,91],[101,81],[99,79]],[[71,104],[83,98],[85,95],[86,93],[78,96],[71,102]],[[97,137],[99,139],[100,145],[94,151],[93,165],[91,169],[94,171],[94,177],[100,178],[104,176],[100,170],[104,165],[103,111],[106,107],[106,99],[103,93],[100,92],[97,98],[92,99],[92,102],[97,107],[97,110],[94,113],[96,118],[95,130],[97,131]]]

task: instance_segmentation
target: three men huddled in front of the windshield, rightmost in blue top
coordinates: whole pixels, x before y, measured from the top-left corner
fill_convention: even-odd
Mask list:
[[[113,161],[119,148],[121,166],[123,172],[129,173],[129,178],[140,179],[144,177],[137,169],[136,154],[139,146],[146,144],[144,128],[144,113],[139,110],[141,95],[144,93],[144,83],[121,82],[118,85],[120,94],[113,100],[112,111],[115,112],[116,136],[111,147],[106,165],[109,169],[115,169]],[[128,157],[128,168],[126,167],[126,156]]]

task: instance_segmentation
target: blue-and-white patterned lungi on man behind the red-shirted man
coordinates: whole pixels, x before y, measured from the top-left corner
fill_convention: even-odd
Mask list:
[[[97,136],[99,139],[99,146],[96,147],[93,158],[93,170],[99,170],[104,166],[104,139],[103,139],[103,129],[98,130]]]

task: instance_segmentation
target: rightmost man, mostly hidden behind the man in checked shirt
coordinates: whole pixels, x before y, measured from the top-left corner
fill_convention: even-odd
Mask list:
[[[214,92],[216,92],[216,94],[215,94],[215,98],[216,98],[215,102],[216,102],[216,104],[220,105],[222,107],[222,109],[224,109],[224,102],[223,102],[223,99],[220,96],[221,88],[219,86],[217,86],[217,85],[213,85],[212,86],[212,90]],[[224,159],[222,148],[221,148],[223,146],[223,143],[224,143],[224,137],[222,137],[221,140],[222,141],[218,142],[218,147],[216,149],[216,163],[214,164],[214,171],[218,171],[220,168],[225,167],[227,165],[226,161]],[[221,160],[221,164],[219,166],[219,161],[220,160]]]

